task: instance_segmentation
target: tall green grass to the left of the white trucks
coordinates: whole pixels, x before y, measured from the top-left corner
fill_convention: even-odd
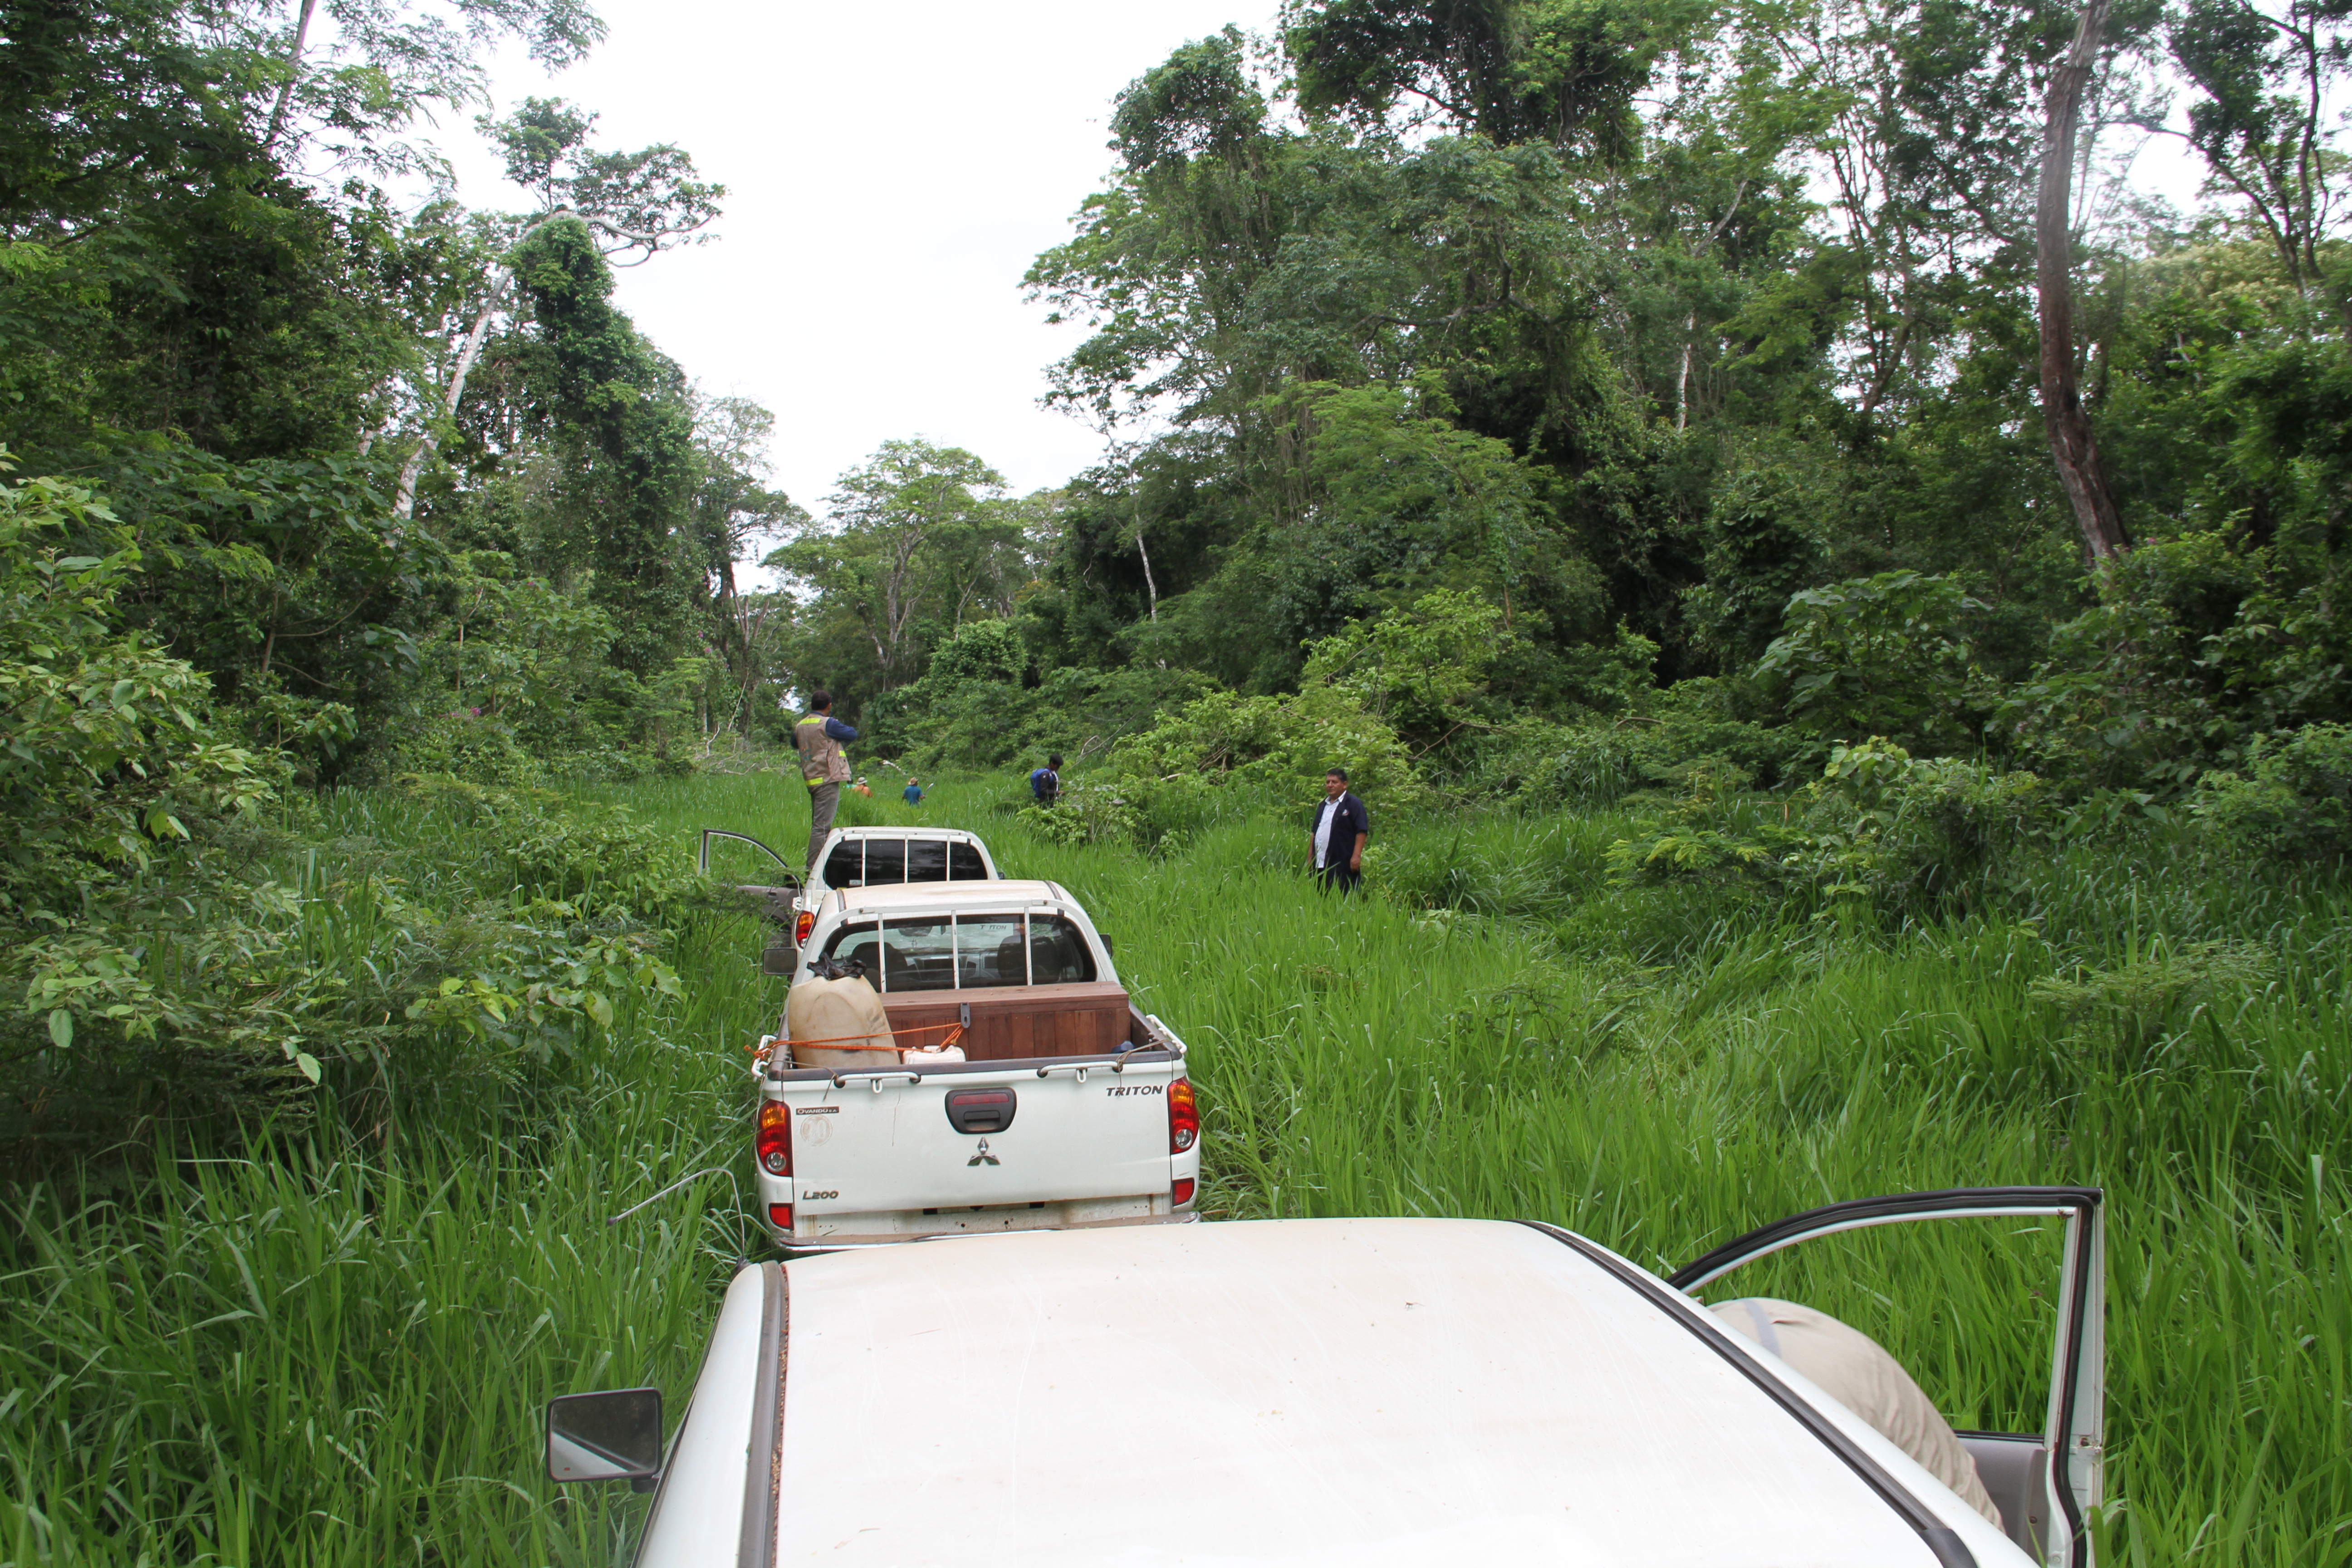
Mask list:
[[[346,971],[416,938],[348,872],[428,907],[541,891],[430,802],[325,811],[327,851],[278,870],[313,893],[299,940]],[[249,1147],[158,1143],[96,1201],[9,1192],[0,1563],[621,1561],[642,1500],[557,1497],[539,1408],[691,1382],[750,1237],[727,1166],[741,1044],[781,997],[746,961],[760,940],[757,919],[689,917],[670,959],[694,985],[623,1001],[576,1056],[393,1051]]]

